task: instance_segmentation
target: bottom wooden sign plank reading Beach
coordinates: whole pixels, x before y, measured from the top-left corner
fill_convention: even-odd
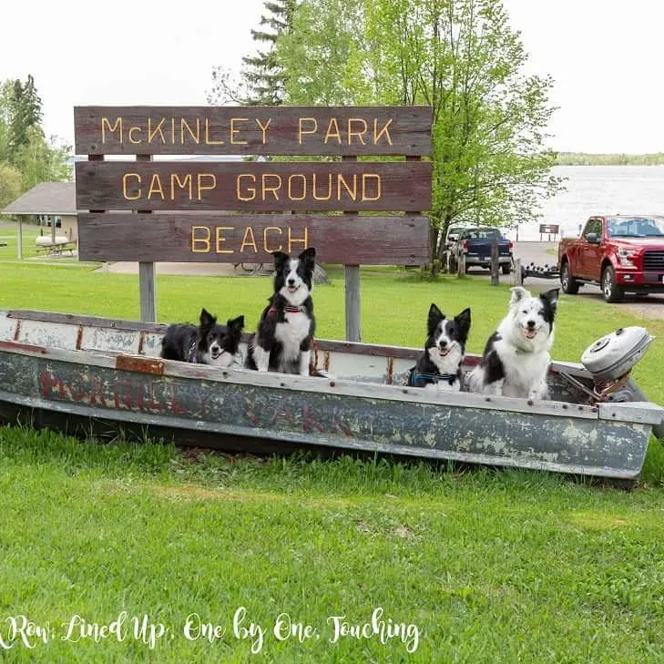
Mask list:
[[[222,214],[81,214],[80,260],[271,262],[315,247],[319,260],[416,265],[430,258],[429,220]]]

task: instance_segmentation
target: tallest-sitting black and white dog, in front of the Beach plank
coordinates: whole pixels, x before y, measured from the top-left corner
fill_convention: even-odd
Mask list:
[[[297,258],[281,251],[272,256],[274,293],[250,340],[246,366],[308,376],[316,329],[311,294],[316,250],[305,249]]]

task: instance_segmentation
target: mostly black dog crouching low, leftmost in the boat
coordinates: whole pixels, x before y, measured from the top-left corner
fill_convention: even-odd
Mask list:
[[[218,325],[217,319],[205,309],[200,311],[199,327],[169,325],[161,340],[161,357],[198,364],[228,367],[237,362],[244,316]]]

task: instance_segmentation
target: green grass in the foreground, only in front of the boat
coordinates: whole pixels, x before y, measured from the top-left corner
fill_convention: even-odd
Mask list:
[[[0,616],[58,637],[75,614],[120,611],[171,630],[153,652],[131,637],[17,646],[19,664],[656,662],[664,646],[656,490],[348,458],[194,462],[168,445],[6,428],[0,487]],[[232,635],[239,607],[266,629],[288,613],[320,638],[269,631],[252,656]],[[329,642],[330,616],[364,623],[377,607],[418,628],[413,654],[397,639]],[[188,641],[192,613],[225,638]]]

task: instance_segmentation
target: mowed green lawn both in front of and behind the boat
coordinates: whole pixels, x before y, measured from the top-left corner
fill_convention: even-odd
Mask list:
[[[342,338],[342,270],[330,275],[314,291],[317,335]],[[270,292],[269,278],[160,276],[158,319],[195,321],[205,306],[244,313],[253,329]],[[449,315],[471,307],[469,351],[480,352],[507,299],[508,285],[364,270],[363,341],[421,345],[434,301]],[[136,319],[138,276],[0,262],[0,308]],[[664,322],[563,296],[554,357],[578,361],[630,324],[657,337],[635,374],[662,404]],[[644,480],[625,492],[544,473],[257,459],[5,427],[0,509],[0,661],[659,662],[664,651],[654,439]]]

